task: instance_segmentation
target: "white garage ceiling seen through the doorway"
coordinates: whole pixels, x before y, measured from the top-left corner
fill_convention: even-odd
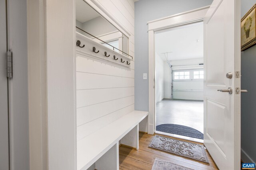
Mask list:
[[[155,35],[155,52],[163,61],[167,52],[168,61],[202,58],[203,44],[202,22],[157,31]]]

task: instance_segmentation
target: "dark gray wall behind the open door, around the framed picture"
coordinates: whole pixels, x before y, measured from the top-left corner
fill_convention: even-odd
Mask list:
[[[252,8],[256,0],[242,0],[241,17]],[[256,46],[241,52],[241,148],[256,161]]]

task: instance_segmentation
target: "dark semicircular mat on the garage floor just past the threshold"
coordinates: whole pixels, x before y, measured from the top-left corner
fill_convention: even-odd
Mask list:
[[[162,124],[156,126],[156,131],[182,135],[186,137],[193,137],[197,139],[204,139],[204,134],[200,131],[183,125],[176,124]]]

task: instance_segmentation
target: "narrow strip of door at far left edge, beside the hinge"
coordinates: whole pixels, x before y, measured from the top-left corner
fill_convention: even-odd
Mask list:
[[[6,1],[0,1],[0,170],[9,169]]]

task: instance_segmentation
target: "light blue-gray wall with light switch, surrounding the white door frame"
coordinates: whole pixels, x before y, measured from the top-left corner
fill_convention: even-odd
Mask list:
[[[212,0],[139,0],[135,2],[135,109],[148,111],[148,21],[208,6]]]

